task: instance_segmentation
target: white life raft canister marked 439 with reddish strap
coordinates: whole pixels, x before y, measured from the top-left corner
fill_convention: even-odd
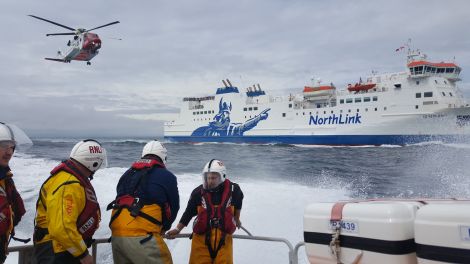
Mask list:
[[[422,206],[418,201],[310,204],[304,214],[309,262],[415,264],[414,221]]]

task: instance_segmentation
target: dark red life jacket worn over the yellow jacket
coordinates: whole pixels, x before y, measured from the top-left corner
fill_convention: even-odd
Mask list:
[[[57,167],[55,167],[51,171],[51,176],[49,176],[49,178],[44,182],[44,184],[61,171],[65,171],[72,174],[78,179],[78,181],[66,181],[59,185],[52,192],[52,194],[57,192],[60,187],[73,183],[79,183],[84,188],[86,195],[85,207],[77,218],[77,230],[82,235],[83,240],[88,243],[92,240],[93,234],[98,229],[101,217],[100,205],[98,204],[98,200],[96,199],[95,190],[93,189],[93,186],[91,185],[90,181],[88,179],[85,179],[85,177],[78,171],[75,165],[69,160],[63,161]],[[44,202],[41,193],[39,194],[39,199],[42,201],[44,208],[47,210],[46,203]],[[44,233],[43,237],[46,234],[47,233]],[[35,240],[39,241],[41,239]]]

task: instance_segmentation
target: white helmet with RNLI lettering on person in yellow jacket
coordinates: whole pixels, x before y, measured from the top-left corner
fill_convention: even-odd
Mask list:
[[[93,139],[78,142],[70,152],[70,158],[78,161],[92,172],[108,165],[106,150]]]

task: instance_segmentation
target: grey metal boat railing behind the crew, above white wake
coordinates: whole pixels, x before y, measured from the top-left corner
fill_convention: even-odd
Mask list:
[[[246,240],[256,240],[264,242],[277,242],[283,243],[287,246],[289,264],[298,264],[298,252],[300,247],[304,246],[304,242],[299,242],[295,247],[285,238],[279,237],[266,237],[266,236],[253,236],[249,232],[248,235],[233,235],[234,239],[246,239]],[[189,238],[191,234],[179,234],[176,238]],[[91,255],[93,256],[93,263],[96,263],[96,256],[98,256],[98,244],[107,244],[110,243],[109,238],[100,238],[96,239],[91,246]],[[23,245],[23,246],[12,246],[8,248],[8,252],[18,252],[18,264],[30,264],[33,263],[34,258],[34,248],[33,245]]]

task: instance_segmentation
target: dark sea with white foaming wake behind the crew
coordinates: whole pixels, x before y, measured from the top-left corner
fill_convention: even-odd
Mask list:
[[[102,210],[95,238],[108,238],[110,212],[120,176],[141,155],[148,138],[97,138],[108,153],[108,167],[92,181]],[[78,138],[36,138],[20,147],[10,165],[26,203],[19,237],[31,237],[35,203],[49,172],[68,158]],[[330,147],[164,142],[167,167],[178,179],[180,219],[191,191],[202,182],[202,168],[211,159],[227,166],[227,177],[243,193],[241,221],[255,236],[285,238],[293,246],[303,240],[304,208],[315,202],[369,198],[470,198],[470,142],[428,142],[405,146]],[[176,225],[177,221],[174,223]],[[190,227],[182,233],[189,233]],[[237,230],[235,234],[245,235]],[[174,263],[188,263],[191,241],[166,240]],[[20,245],[12,242],[11,245]],[[308,263],[303,248],[299,263]],[[7,263],[17,263],[11,253]],[[278,242],[234,241],[235,263],[288,263],[288,248]],[[98,246],[97,263],[113,263],[109,244]]]

